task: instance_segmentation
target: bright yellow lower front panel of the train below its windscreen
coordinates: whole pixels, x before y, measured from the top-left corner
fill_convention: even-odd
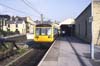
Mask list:
[[[54,38],[51,36],[47,36],[47,35],[40,35],[40,36],[34,37],[34,41],[36,41],[36,42],[53,42]]]

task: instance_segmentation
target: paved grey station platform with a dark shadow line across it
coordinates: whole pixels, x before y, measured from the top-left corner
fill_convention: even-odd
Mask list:
[[[74,37],[58,38],[38,66],[99,66],[90,59],[90,45]]]

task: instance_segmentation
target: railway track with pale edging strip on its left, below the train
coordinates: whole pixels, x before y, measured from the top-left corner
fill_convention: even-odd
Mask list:
[[[4,60],[4,64],[0,64],[0,66],[37,66],[40,60],[43,58],[49,47],[52,45],[51,43],[47,44],[36,44],[33,41],[29,41],[27,43],[30,47],[30,50],[24,53],[21,56],[15,56],[11,62],[7,63]],[[9,61],[9,60],[7,60]],[[5,64],[7,63],[7,64]]]

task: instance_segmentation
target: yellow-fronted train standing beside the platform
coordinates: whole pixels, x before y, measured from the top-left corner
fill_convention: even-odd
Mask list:
[[[34,42],[53,42],[58,36],[58,29],[51,24],[37,24],[34,27]]]

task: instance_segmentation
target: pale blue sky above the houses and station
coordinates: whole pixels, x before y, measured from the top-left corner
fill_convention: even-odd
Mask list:
[[[91,2],[91,0],[26,0],[34,9],[43,14],[44,20],[63,21],[68,18],[76,18]],[[11,16],[30,16],[32,20],[40,20],[40,14],[28,7],[22,0],[0,0],[11,8],[20,10],[17,12],[0,5],[0,14]],[[25,12],[25,13],[24,13]]]

